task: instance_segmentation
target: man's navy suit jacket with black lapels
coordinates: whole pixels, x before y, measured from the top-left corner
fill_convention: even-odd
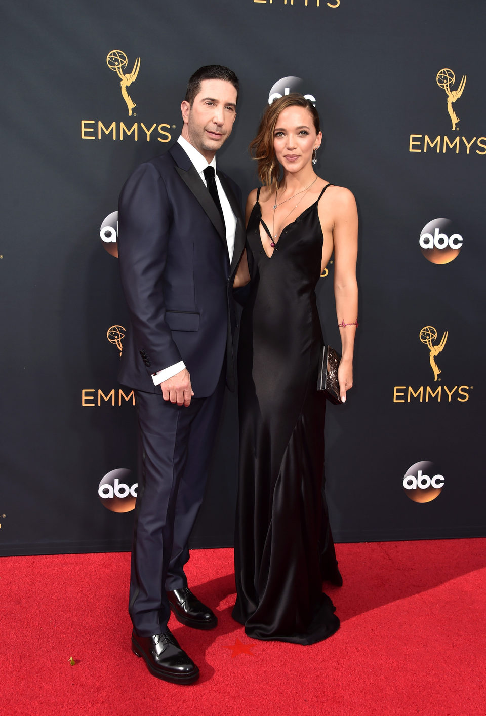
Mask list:
[[[118,256],[130,311],[120,382],[160,392],[152,373],[183,360],[195,397],[215,390],[227,355],[233,388],[233,279],[245,243],[240,190],[218,171],[237,218],[230,263],[225,228],[179,144],[141,164],[118,207]]]

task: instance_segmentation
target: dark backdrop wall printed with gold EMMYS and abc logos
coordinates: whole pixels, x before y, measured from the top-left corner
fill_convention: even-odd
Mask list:
[[[298,90],[324,128],[319,174],[356,195],[356,384],[329,407],[336,541],[486,534],[482,413],[486,106],[480,0],[16,0],[4,4],[0,553],[130,546],[135,410],[117,384],[127,325],[117,196],[178,137],[194,69],[240,77],[218,155]],[[333,266],[319,284],[338,341]],[[193,546],[229,546],[228,395]]]

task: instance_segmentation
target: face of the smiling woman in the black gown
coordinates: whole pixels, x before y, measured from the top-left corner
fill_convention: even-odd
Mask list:
[[[283,169],[295,173],[312,161],[312,153],[321,145],[322,133],[316,134],[311,112],[306,107],[287,107],[278,115],[273,131],[273,149]]]

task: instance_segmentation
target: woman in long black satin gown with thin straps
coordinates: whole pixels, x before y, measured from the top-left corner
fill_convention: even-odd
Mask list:
[[[341,400],[352,385],[357,213],[349,190],[314,172],[319,115],[301,95],[273,102],[251,143],[263,188],[247,202],[251,279],[238,352],[240,485],[233,618],[256,639],[314,644],[339,629],[323,579],[341,583],[322,495],[323,344],[314,289],[334,251]],[[281,168],[283,176],[281,177]]]

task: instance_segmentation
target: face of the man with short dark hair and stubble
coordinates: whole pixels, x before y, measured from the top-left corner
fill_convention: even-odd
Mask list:
[[[184,139],[200,152],[208,163],[230,136],[236,119],[236,89],[224,79],[203,79],[193,106],[180,105]]]

